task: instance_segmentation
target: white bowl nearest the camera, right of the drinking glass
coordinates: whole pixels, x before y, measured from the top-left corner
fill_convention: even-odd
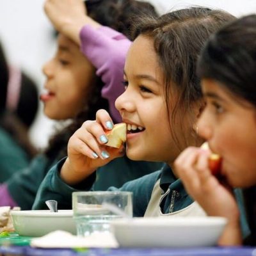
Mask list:
[[[221,217],[133,218],[111,223],[123,247],[214,246],[227,220]]]

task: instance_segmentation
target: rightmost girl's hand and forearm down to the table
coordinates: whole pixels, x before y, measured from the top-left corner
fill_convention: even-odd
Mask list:
[[[241,244],[239,208],[227,180],[219,180],[209,169],[209,155],[202,148],[189,147],[175,160],[175,172],[186,191],[209,216],[222,216],[228,223],[220,238],[220,245]]]

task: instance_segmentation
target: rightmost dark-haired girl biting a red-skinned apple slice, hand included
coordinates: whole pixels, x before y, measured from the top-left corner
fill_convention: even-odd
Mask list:
[[[256,15],[238,19],[211,36],[198,63],[207,105],[198,132],[222,157],[221,181],[207,165],[209,152],[188,148],[176,161],[186,189],[211,216],[228,225],[220,244],[241,244],[239,207],[230,188],[243,188],[251,236],[256,245]],[[211,203],[210,203],[211,202]]]

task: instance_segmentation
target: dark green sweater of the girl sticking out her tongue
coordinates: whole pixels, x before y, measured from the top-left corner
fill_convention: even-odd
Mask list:
[[[49,159],[44,154],[40,154],[31,161],[27,168],[15,173],[6,182],[8,192],[22,210],[32,208],[40,184],[58,160],[60,160],[58,157]],[[99,168],[95,187],[99,190],[104,190],[111,185],[119,187],[128,180],[137,179],[142,175],[154,172],[162,165],[163,163],[132,161],[126,156],[120,157],[106,164],[103,168]]]

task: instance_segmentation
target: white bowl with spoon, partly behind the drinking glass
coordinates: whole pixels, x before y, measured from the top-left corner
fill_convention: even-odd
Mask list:
[[[15,232],[20,236],[44,236],[55,230],[65,230],[76,234],[72,210],[11,211]]]

